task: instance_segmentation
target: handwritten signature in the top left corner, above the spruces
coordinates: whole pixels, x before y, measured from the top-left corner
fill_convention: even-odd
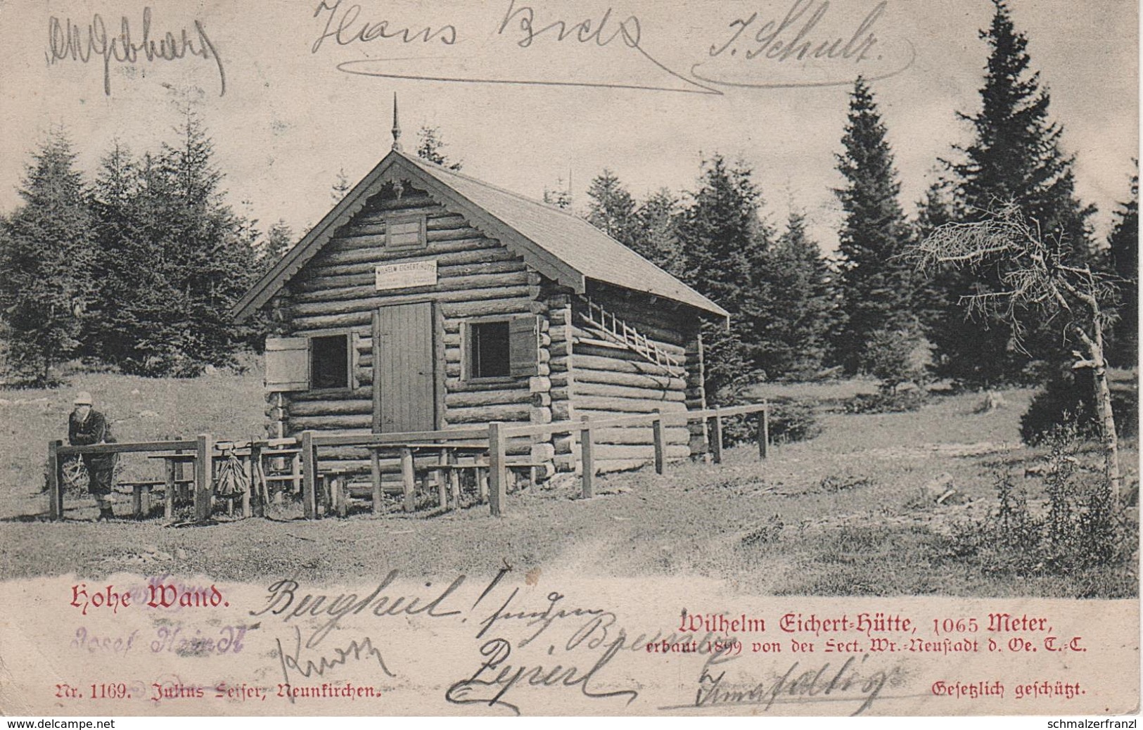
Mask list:
[[[49,65],[67,58],[79,63],[89,63],[93,57],[103,59],[103,93],[111,96],[111,63],[135,65],[142,59],[147,63],[157,61],[181,61],[187,56],[214,59],[218,69],[218,96],[226,94],[226,70],[223,67],[218,49],[207,35],[201,21],[194,21],[194,31],[181,29],[178,32],[167,31],[152,38],[151,8],[143,9],[143,34],[136,42],[131,39],[131,23],[127,16],[121,16],[119,33],[109,32],[107,24],[98,13],[91,16],[86,32],[71,18],[61,21],[56,16],[48,19],[48,49],[46,57]]]

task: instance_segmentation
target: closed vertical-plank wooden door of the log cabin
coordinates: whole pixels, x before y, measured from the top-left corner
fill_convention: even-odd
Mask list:
[[[373,318],[373,430],[437,427],[435,318],[433,304],[383,306]]]

